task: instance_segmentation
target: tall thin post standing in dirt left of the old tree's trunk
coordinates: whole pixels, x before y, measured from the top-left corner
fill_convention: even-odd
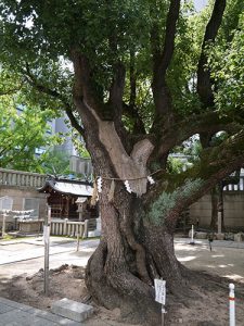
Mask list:
[[[50,225],[51,225],[51,208],[48,206],[48,214],[44,218],[44,226],[43,226],[43,238],[44,238],[44,294],[46,296],[49,296]]]

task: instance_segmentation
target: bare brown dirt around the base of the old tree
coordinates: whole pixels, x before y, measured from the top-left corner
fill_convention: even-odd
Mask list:
[[[167,294],[167,314],[165,326],[224,326],[228,325],[228,284],[229,279],[203,272],[188,271],[189,291]],[[244,319],[244,284],[235,283],[236,325]],[[88,326],[129,326],[132,315],[121,315],[119,309],[113,311],[98,306],[91,301],[85,285],[85,268],[75,265],[62,265],[50,271],[50,296],[43,293],[43,269],[33,276],[17,276],[1,281],[1,296],[31,306],[50,311],[52,302],[62,298],[90,303],[95,314],[85,324]],[[137,316],[138,317],[138,316]],[[143,325],[143,316],[140,325]],[[138,324],[137,324],[138,325]],[[155,325],[156,326],[156,325]]]

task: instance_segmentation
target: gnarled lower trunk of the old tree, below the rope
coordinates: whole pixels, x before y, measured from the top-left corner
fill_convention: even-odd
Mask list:
[[[129,195],[123,185],[116,186],[114,202],[110,203],[110,181],[105,184],[100,199],[102,238],[87,266],[87,287],[98,303],[120,308],[130,322],[160,325],[153,279],[166,279],[169,291],[183,285],[172,235],[146,223],[142,200]]]

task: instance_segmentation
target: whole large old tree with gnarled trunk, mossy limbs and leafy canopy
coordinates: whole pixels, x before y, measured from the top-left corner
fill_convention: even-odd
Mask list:
[[[178,293],[185,284],[172,242],[181,212],[244,162],[242,1],[216,0],[202,14],[180,0],[5,0],[0,9],[3,64],[33,100],[65,110],[102,178],[88,289],[157,325],[153,279]],[[176,173],[170,153],[192,136],[201,154]]]

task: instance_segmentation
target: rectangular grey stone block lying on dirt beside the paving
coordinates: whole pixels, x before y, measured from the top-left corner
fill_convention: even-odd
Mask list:
[[[82,322],[93,313],[93,306],[66,298],[54,302],[51,310],[57,315],[76,322]]]

